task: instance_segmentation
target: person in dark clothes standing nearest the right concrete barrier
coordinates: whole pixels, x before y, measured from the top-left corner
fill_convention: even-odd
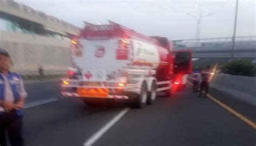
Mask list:
[[[206,94],[208,93],[208,89],[209,89],[209,79],[210,79],[210,65],[207,65],[206,70],[203,70],[201,72],[201,86],[200,86],[200,93],[199,93],[199,97],[202,96],[202,91],[205,87],[205,97]]]

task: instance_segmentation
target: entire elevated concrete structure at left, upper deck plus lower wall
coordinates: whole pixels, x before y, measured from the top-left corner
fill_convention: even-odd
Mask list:
[[[42,65],[45,74],[63,74],[71,64],[70,39],[79,27],[13,0],[0,0],[0,24],[0,47],[10,53],[12,70],[32,75]]]

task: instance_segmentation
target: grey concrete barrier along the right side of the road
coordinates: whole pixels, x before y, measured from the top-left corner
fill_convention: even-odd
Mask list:
[[[256,77],[214,75],[210,86],[256,107]]]

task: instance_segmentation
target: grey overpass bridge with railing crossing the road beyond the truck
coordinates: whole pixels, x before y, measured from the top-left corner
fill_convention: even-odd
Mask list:
[[[173,40],[173,49],[191,49],[193,58],[230,58],[232,38]],[[235,58],[256,58],[256,37],[236,37]]]

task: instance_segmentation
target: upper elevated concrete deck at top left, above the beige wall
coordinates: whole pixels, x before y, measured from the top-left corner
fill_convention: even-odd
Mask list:
[[[13,0],[0,0],[0,16],[23,30],[45,35],[49,32],[66,37],[77,35],[80,28]]]

